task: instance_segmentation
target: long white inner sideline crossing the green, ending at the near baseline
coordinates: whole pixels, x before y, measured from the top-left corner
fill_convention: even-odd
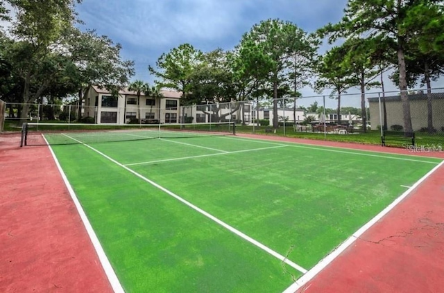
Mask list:
[[[273,249],[266,247],[265,245],[263,245],[261,242],[254,240],[253,238],[250,238],[250,236],[247,236],[246,234],[242,233],[241,231],[235,229],[234,227],[230,226],[229,224],[226,224],[225,222],[223,222],[222,220],[219,220],[217,217],[214,217],[214,215],[211,215],[210,213],[207,213],[206,211],[204,211],[202,208],[198,208],[198,206],[195,206],[194,204],[191,204],[191,202],[188,202],[186,199],[183,199],[182,197],[180,197],[179,195],[176,195],[175,193],[173,193],[172,191],[168,190],[167,188],[164,188],[163,186],[160,186],[159,184],[155,183],[154,181],[151,181],[150,179],[144,177],[143,175],[140,175],[139,173],[135,172],[134,170],[131,170],[130,168],[122,165],[121,163],[119,163],[118,161],[112,159],[111,157],[109,157],[106,154],[103,154],[103,152],[96,150],[95,148],[93,148],[90,145],[87,145],[86,143],[83,143],[81,141],[78,141],[77,139],[74,139],[72,137],[70,137],[67,134],[64,134],[65,136],[69,137],[70,139],[73,139],[74,141],[77,141],[78,143],[81,143],[83,145],[85,145],[87,148],[94,150],[94,152],[100,154],[101,156],[105,157],[106,159],[112,161],[113,163],[115,163],[117,166],[120,166],[121,168],[127,170],[128,172],[133,173],[133,175],[136,175],[137,177],[139,177],[140,179],[148,182],[149,184],[151,184],[152,186],[154,186],[155,188],[158,188],[160,190],[162,190],[164,193],[167,193],[168,195],[171,195],[171,197],[174,197],[176,199],[178,199],[178,201],[182,202],[183,204],[186,204],[187,206],[189,206],[190,208],[193,208],[195,211],[198,211],[198,213],[201,213],[202,215],[205,215],[205,217],[208,217],[210,220],[213,220],[214,222],[216,222],[217,224],[221,225],[222,227],[224,227],[225,229],[228,229],[229,231],[231,231],[232,233],[236,234],[237,236],[243,238],[244,240],[247,240],[248,242],[250,242],[251,244],[259,247],[260,249],[266,251],[268,254],[271,254],[272,256],[274,256],[275,258],[278,258],[280,261],[282,261],[283,263],[286,263],[287,265],[293,267],[294,269],[297,269],[299,272],[302,272],[302,274],[307,273],[307,269],[304,269],[303,267],[301,267],[300,265],[297,265],[296,263],[293,263],[291,260],[289,260],[287,257],[282,256],[280,254],[278,254],[278,252],[274,251]]]

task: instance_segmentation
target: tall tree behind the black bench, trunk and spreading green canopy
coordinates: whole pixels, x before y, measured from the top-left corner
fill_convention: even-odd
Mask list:
[[[330,42],[341,37],[368,38],[382,36],[398,57],[400,72],[399,87],[402,100],[402,114],[404,130],[412,132],[409,98],[407,96],[407,71],[405,51],[411,38],[417,30],[411,30],[419,20],[418,12],[426,11],[430,5],[442,3],[438,0],[349,0],[345,8],[345,15],[338,24],[328,24],[321,33],[330,36]],[[412,11],[416,17],[409,17]],[[420,29],[420,28],[419,28]]]

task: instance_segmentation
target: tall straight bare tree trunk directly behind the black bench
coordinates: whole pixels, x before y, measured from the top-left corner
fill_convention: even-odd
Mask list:
[[[407,70],[405,65],[405,55],[402,48],[402,39],[398,39],[398,66],[400,71],[400,91],[402,101],[402,116],[404,119],[404,132],[413,132],[411,125],[410,102],[407,94]]]

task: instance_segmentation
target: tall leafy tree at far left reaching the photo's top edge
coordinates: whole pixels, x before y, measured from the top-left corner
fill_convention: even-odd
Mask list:
[[[17,42],[12,48],[12,64],[23,79],[22,121],[33,103],[46,90],[66,60],[54,53],[62,31],[76,21],[75,0],[8,0],[17,14],[10,33]],[[14,59],[15,58],[15,59]],[[37,85],[37,89],[31,88]]]

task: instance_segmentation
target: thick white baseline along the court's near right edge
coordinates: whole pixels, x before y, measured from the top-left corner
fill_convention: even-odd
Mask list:
[[[386,208],[384,208],[384,210],[382,210],[375,217],[373,217],[372,220],[370,220],[366,224],[364,224],[364,226],[361,227],[361,229],[356,231],[352,236],[350,236],[350,238],[345,240],[345,242],[343,242],[339,247],[334,249],[334,251],[332,251],[329,255],[325,256],[325,258],[323,258],[323,260],[321,260],[313,268],[311,268],[309,270],[309,272],[307,272],[302,277],[300,277],[298,279],[298,281],[293,283],[293,285],[288,287],[287,290],[285,290],[283,293],[294,293],[294,292],[298,291],[301,287],[303,287],[305,284],[307,284],[309,281],[311,281],[311,279],[314,278],[314,276],[316,276],[316,274],[321,272],[323,269],[325,269],[325,267],[327,267],[327,265],[332,263],[332,261],[335,258],[337,258],[343,251],[345,251],[345,249],[347,249],[350,245],[352,245],[352,243],[355,242],[362,234],[364,234],[364,232],[366,232],[368,229],[370,229],[370,227],[372,227],[373,224],[375,224],[376,222],[381,220],[382,217],[384,217],[384,215],[386,215],[389,211],[391,211],[393,208],[395,208],[395,206],[397,206],[400,202],[402,202],[402,199],[407,197],[411,193],[411,191],[413,191],[413,189],[418,187],[418,185],[420,185],[423,181],[425,181],[425,179],[427,179],[430,175],[432,175],[433,172],[438,170],[438,168],[441,168],[441,166],[443,166],[443,165],[444,165],[444,161],[441,161],[441,163],[439,163],[438,166],[435,166],[435,168],[430,170],[421,179],[416,181],[416,183],[413,184],[413,186],[411,186],[411,188],[409,188],[409,190],[406,190],[404,193],[402,193],[402,195],[400,195],[400,197],[395,199],[390,205],[388,205]]]

